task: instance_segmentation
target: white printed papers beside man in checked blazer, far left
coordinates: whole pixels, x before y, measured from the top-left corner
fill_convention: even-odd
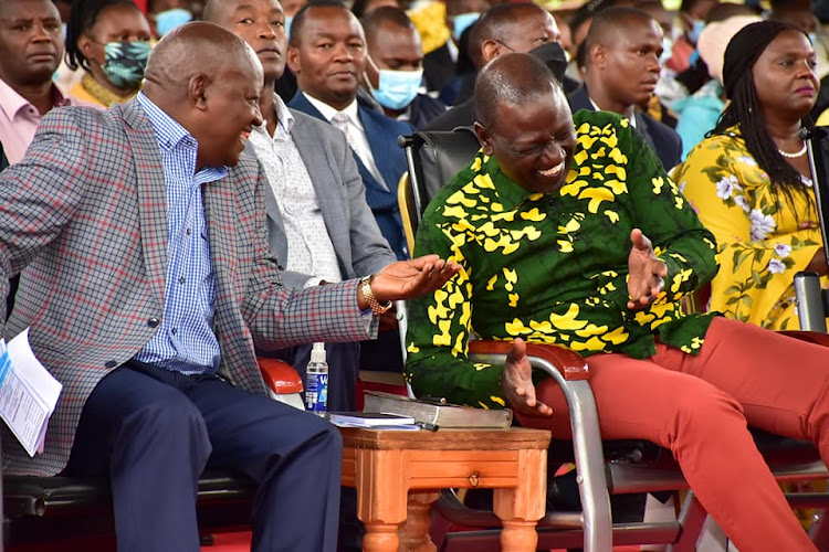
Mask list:
[[[30,456],[43,452],[49,417],[62,388],[34,357],[29,328],[8,347],[0,339],[0,417]]]

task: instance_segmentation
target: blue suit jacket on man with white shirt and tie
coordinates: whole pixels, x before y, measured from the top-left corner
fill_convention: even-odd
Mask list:
[[[308,98],[305,97],[302,91],[298,91],[287,105],[327,123],[323,114],[308,102]],[[403,172],[406,172],[406,156],[403,155],[403,150],[397,145],[397,137],[412,134],[414,127],[409,123],[392,120],[364,106],[358,107],[358,114],[360,123],[366,129],[366,137],[368,138],[371,153],[375,156],[377,169],[382,174],[382,179],[389,188],[386,190],[371,176],[366,166],[363,164],[359,156],[354,153],[363,183],[366,185],[366,201],[368,202],[368,206],[371,208],[375,219],[377,219],[380,232],[388,240],[397,258],[409,258],[406,237],[403,235],[403,224],[400,220],[400,210],[397,204],[397,183]]]

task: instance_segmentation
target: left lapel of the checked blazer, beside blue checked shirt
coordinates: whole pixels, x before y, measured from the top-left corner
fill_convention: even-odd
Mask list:
[[[127,141],[133,150],[138,192],[144,265],[153,291],[164,305],[164,286],[167,278],[167,184],[164,178],[161,155],[153,124],[137,100],[125,104],[124,120]]]

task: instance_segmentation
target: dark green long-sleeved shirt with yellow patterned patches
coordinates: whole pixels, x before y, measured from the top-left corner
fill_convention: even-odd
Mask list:
[[[578,142],[558,192],[531,193],[479,152],[426,210],[416,255],[451,257],[461,272],[410,301],[406,376],[417,395],[504,406],[501,365],[472,363],[468,342],[559,343],[583,355],[643,359],[654,339],[695,353],[712,315],[684,316],[679,299],[716,273],[716,243],[627,119],[574,115]],[[630,232],[668,265],[665,289],[627,308]]]

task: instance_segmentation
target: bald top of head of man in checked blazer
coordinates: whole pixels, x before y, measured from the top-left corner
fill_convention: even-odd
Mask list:
[[[153,49],[144,93],[154,102],[183,97],[193,76],[214,78],[233,70],[258,73],[262,81],[256,54],[242,39],[213,23],[188,23],[167,33]]]

